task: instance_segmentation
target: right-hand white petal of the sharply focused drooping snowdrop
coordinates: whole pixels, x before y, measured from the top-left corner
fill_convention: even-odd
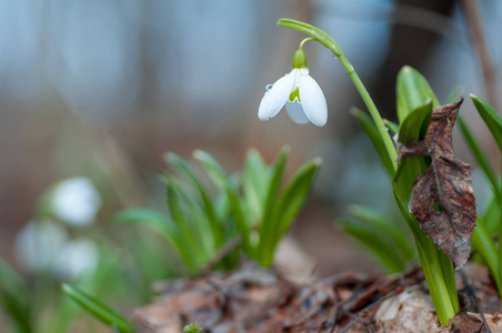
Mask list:
[[[307,118],[317,127],[323,127],[328,121],[328,104],[321,87],[310,75],[302,75],[300,84],[300,101]]]

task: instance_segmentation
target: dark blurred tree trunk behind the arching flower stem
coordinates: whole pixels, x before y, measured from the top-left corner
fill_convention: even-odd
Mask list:
[[[396,0],[395,6],[416,8],[443,17],[451,17],[454,0]],[[424,24],[426,24],[424,22]],[[424,69],[429,57],[441,36],[428,29],[394,23],[391,32],[389,53],[371,82],[369,90],[384,118],[395,120],[395,78],[399,70],[409,64],[419,71]]]

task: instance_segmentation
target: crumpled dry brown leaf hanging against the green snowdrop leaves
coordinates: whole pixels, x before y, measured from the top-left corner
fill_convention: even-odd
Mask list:
[[[425,139],[398,145],[398,161],[431,157],[428,170],[413,184],[409,208],[455,270],[469,259],[476,219],[470,165],[453,157],[452,130],[462,102],[434,108]]]

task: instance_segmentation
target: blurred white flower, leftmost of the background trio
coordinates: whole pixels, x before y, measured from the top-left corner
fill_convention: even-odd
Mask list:
[[[48,271],[67,240],[67,232],[52,221],[30,221],[16,239],[16,254],[24,269]]]

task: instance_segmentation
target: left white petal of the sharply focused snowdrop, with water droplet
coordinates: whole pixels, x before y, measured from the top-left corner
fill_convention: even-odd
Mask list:
[[[294,74],[289,73],[273,83],[272,89],[267,91],[258,109],[260,120],[269,120],[281,111],[289,99],[294,83]]]

